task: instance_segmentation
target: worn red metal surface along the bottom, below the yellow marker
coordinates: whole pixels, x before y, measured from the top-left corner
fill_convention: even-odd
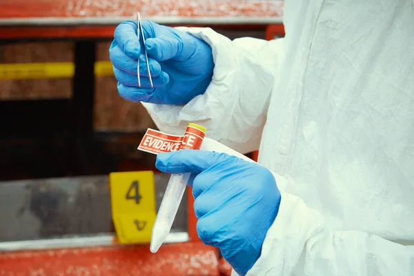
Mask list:
[[[219,275],[217,250],[200,242],[0,253],[1,276]]]

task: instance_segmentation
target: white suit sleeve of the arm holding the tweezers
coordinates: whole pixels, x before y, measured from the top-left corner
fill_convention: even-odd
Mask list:
[[[208,43],[215,63],[203,95],[185,106],[143,103],[157,127],[180,135],[188,122],[207,128],[207,136],[246,153],[259,148],[283,39],[231,41],[210,28],[180,28]]]

